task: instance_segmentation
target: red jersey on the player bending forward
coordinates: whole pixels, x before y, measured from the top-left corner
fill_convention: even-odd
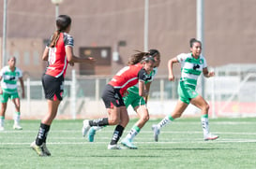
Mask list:
[[[115,89],[120,89],[120,93],[123,96],[124,92],[131,86],[136,85],[139,80],[147,81],[151,78],[147,75],[143,69],[142,63],[137,63],[134,65],[125,66],[122,68],[109,82],[110,85]]]

